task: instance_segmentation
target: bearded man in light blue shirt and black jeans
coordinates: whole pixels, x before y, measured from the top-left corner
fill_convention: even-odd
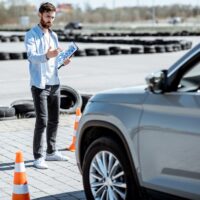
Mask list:
[[[40,23],[26,33],[25,46],[29,61],[31,92],[33,96],[36,122],[33,137],[34,166],[47,169],[45,162],[68,160],[56,150],[56,135],[60,109],[60,81],[56,56],[61,49],[58,38],[50,27],[55,19],[56,8],[51,3],[43,3],[39,8]],[[64,60],[63,65],[69,64]],[[46,129],[47,150],[43,156],[43,135]]]

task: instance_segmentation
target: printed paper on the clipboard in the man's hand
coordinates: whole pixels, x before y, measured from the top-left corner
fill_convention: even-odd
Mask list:
[[[61,67],[63,65],[64,60],[70,58],[77,50],[77,45],[74,42],[70,42],[68,48],[64,51],[61,51],[56,58],[58,66]]]

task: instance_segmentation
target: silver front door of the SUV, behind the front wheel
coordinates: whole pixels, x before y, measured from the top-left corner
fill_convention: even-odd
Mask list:
[[[191,199],[200,199],[199,73],[200,64],[177,91],[149,93],[138,137],[142,184]]]

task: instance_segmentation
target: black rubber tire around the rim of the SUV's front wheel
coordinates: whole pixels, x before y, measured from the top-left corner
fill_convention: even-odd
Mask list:
[[[87,199],[94,199],[91,189],[90,189],[90,183],[89,183],[89,170],[91,161],[94,158],[96,154],[98,154],[101,151],[109,151],[112,154],[115,155],[115,157],[119,160],[121,163],[121,166],[125,172],[126,177],[126,184],[127,184],[127,197],[126,200],[130,199],[137,199],[139,200],[139,192],[136,189],[136,184],[134,182],[134,176],[132,173],[132,170],[130,168],[131,164],[129,162],[128,157],[126,156],[126,153],[123,152],[122,148],[119,147],[119,144],[115,142],[111,138],[107,137],[101,137],[92,142],[92,144],[88,147],[84,160],[83,160],[83,186],[85,190],[85,195]]]

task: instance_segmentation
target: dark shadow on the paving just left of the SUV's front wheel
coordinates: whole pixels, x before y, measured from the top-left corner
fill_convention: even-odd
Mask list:
[[[33,200],[86,200],[83,190],[40,197]]]

